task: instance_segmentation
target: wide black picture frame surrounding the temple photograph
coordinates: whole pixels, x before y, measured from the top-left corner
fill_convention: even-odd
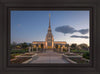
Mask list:
[[[100,71],[100,3],[95,0],[1,0],[0,1],[0,73],[1,74],[99,74]],[[91,65],[63,65],[63,64],[38,64],[8,65],[9,42],[10,42],[10,15],[9,10],[90,10],[90,53]],[[96,49],[96,50],[94,50]]]

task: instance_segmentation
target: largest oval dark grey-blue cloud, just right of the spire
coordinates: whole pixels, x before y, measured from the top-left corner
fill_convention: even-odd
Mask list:
[[[72,27],[70,27],[68,25],[57,27],[55,29],[55,31],[61,32],[61,33],[64,33],[64,34],[66,34],[66,33],[72,34],[72,33],[76,32],[76,30],[74,28],[72,28]]]

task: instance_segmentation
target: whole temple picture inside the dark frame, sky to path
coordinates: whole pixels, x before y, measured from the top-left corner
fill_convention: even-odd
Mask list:
[[[9,63],[89,64],[90,13],[90,10],[10,10]]]

